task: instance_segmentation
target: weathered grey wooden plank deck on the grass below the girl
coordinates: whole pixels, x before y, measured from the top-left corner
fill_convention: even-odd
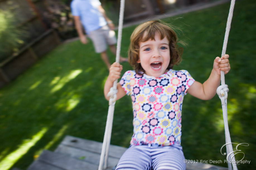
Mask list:
[[[54,152],[44,150],[28,170],[97,170],[102,142],[66,136]],[[110,145],[108,168],[115,167],[127,148]],[[212,164],[187,164],[186,170],[228,170]]]

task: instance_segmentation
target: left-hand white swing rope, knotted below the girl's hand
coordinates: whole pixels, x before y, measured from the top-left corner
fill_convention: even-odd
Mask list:
[[[122,29],[123,29],[123,20],[124,20],[124,4],[125,4],[125,0],[121,0],[119,24],[118,24],[118,35],[117,35],[117,53],[115,58],[115,61],[117,63],[119,63],[119,60],[120,60]],[[108,166],[108,152],[109,152],[111,132],[112,132],[115,101],[117,99],[117,80],[114,81],[113,87],[110,88],[110,91],[108,92],[108,97],[110,97],[109,107],[108,107],[108,116],[107,116],[107,122],[106,122],[105,134],[103,138],[102,151],[100,154],[100,164],[99,164],[98,170],[102,170],[103,162],[104,162],[104,169],[106,169]]]

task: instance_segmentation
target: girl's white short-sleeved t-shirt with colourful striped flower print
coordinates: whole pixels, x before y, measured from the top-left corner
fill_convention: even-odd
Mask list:
[[[132,145],[180,144],[182,101],[194,81],[186,70],[170,69],[158,78],[125,72],[119,83],[132,99]]]

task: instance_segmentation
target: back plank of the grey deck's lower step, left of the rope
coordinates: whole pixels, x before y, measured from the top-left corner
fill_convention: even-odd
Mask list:
[[[57,152],[44,150],[38,158],[39,161],[59,167],[64,170],[96,170],[98,166],[89,162],[80,161]]]

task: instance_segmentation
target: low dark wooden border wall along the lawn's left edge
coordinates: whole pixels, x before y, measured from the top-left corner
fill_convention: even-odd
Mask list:
[[[26,45],[2,63],[0,63],[0,87],[15,79],[28,67],[32,66],[47,52],[60,44],[59,36],[54,29],[49,29],[33,42]]]

